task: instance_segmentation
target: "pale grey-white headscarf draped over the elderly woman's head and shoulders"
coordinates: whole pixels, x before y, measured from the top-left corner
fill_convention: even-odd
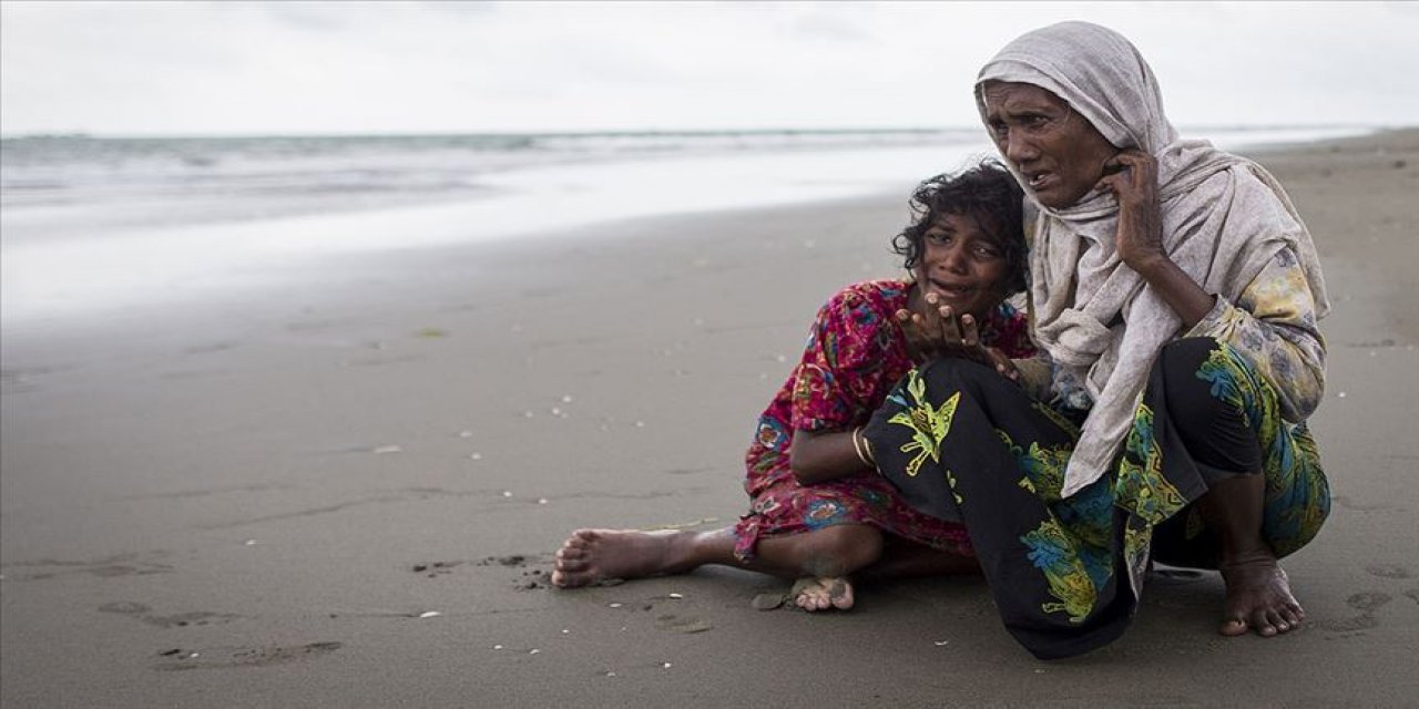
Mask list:
[[[986,82],[1050,91],[1115,147],[1152,155],[1164,248],[1209,294],[1236,302],[1276,252],[1291,247],[1317,318],[1330,311],[1311,235],[1281,186],[1250,160],[1206,140],[1178,139],[1152,69],[1118,33],[1060,23],[1012,41],[976,79],[982,119]],[[1064,474],[1069,496],[1108,469],[1148,370],[1162,346],[1182,333],[1182,319],[1118,258],[1112,194],[1090,193],[1073,206],[1049,208],[1013,164],[1010,172],[1040,210],[1030,244],[1034,339],[1094,400]]]

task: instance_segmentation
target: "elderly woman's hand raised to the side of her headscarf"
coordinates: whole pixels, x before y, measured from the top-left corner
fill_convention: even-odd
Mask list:
[[[1118,258],[1145,278],[1168,262],[1162,245],[1162,211],[1158,208],[1158,162],[1128,149],[1104,163],[1104,177],[1095,186],[1118,199]]]

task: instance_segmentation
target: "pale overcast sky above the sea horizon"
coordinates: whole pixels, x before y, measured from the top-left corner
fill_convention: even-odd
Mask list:
[[[0,3],[0,132],[976,125],[1023,31],[1130,37],[1175,123],[1419,125],[1419,3]]]

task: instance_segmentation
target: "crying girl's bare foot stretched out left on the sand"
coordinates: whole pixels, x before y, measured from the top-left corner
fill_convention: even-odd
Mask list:
[[[640,579],[684,563],[685,532],[578,529],[556,552],[552,586],[576,588],[606,579]]]

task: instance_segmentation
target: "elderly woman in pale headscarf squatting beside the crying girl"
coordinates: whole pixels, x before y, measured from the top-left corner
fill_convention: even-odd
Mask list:
[[[1179,139],[1148,64],[1104,27],[1015,40],[976,104],[1036,211],[1042,354],[1012,369],[945,306],[908,319],[939,356],[874,415],[880,471],[968,526],[1040,658],[1121,635],[1151,560],[1222,571],[1223,635],[1296,628],[1277,559],[1330,508],[1305,430],[1328,311],[1305,225],[1264,169]]]

